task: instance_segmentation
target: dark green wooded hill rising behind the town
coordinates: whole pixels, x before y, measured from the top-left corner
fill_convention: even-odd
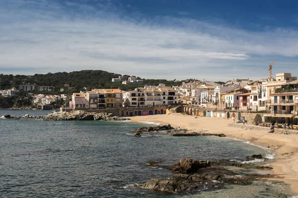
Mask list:
[[[120,88],[121,90],[133,90],[137,87],[143,87],[144,85],[158,85],[163,83],[166,86],[177,86],[181,83],[175,83],[174,81],[167,81],[164,79],[142,79],[143,85],[131,84],[123,85],[122,83],[113,83],[112,78],[118,78],[121,74],[110,73],[102,70],[82,70],[74,72],[57,72],[47,74],[35,74],[31,76],[25,75],[3,75],[0,74],[0,89],[9,89],[11,87],[18,88],[21,83],[37,84],[37,86],[54,86],[55,91],[43,92],[42,94],[60,94],[60,88],[64,88],[64,84],[69,84],[70,87],[75,87],[74,90],[67,90],[64,93],[71,95],[73,92],[79,92],[84,87],[88,88],[88,91],[93,88],[98,89],[110,89]],[[127,80],[129,75],[124,75]],[[141,80],[140,77],[138,79]],[[34,91],[35,94],[41,94],[41,92]]]

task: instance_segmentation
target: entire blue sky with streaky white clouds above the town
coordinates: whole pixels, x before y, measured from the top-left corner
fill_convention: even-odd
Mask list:
[[[0,0],[0,73],[298,76],[296,0]]]

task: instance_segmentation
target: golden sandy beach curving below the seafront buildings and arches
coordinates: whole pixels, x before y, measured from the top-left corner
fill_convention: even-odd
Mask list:
[[[170,124],[188,130],[207,130],[207,133],[224,133],[237,139],[246,140],[261,147],[274,148],[277,159],[268,165],[273,167],[273,180],[281,180],[291,185],[298,194],[298,135],[271,134],[265,131],[252,131],[244,128],[229,127],[232,119],[197,117],[172,113],[168,115],[149,115],[131,117],[133,122],[154,122]],[[257,153],[256,153],[257,154]]]

